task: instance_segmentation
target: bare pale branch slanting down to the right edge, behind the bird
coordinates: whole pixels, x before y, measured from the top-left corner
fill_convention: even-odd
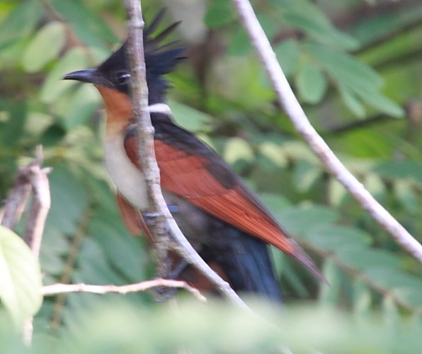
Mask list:
[[[250,2],[248,0],[233,0],[233,3],[236,11],[239,13],[244,28],[249,34],[249,38],[251,38],[252,45],[255,47],[263,66],[266,68],[268,76],[270,76],[278,100],[297,131],[300,132],[312,151],[321,159],[326,169],[344,185],[375,221],[391,234],[397,243],[422,263],[422,245],[365,190],[363,184],[341,164],[341,161],[333,154],[329,146],[324,142],[324,139],[312,127],[290,88],[280,64],[278,64],[275,53],[255,13],[253,13]]]

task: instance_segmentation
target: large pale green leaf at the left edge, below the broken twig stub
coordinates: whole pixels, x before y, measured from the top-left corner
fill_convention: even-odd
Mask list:
[[[17,234],[0,226],[0,299],[17,326],[40,309],[41,272],[32,251]]]

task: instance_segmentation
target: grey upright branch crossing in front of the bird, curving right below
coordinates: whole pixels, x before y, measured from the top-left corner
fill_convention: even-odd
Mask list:
[[[185,236],[181,233],[178,225],[174,221],[169,208],[161,194],[159,168],[156,164],[154,154],[154,128],[148,110],[148,88],[146,81],[146,70],[144,63],[144,50],[142,29],[144,21],[139,0],[125,0],[127,13],[127,42],[128,56],[132,74],[132,103],[134,105],[134,118],[137,122],[137,135],[139,140],[139,162],[144,172],[149,196],[149,212],[157,215],[152,227],[152,234],[158,244],[157,250],[159,261],[163,261],[163,256],[171,247],[178,252],[189,263],[193,264],[201,271],[219,292],[231,299],[232,302],[241,307],[247,308],[240,297],[229,287],[229,284],[222,280],[203,261],[198,253],[193,249]],[[171,235],[171,238],[169,237]],[[174,241],[173,241],[174,240]],[[174,244],[177,244],[175,246]],[[161,268],[161,271],[163,269]]]

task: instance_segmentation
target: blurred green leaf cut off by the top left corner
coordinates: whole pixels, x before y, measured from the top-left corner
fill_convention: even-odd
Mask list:
[[[19,1],[18,6],[0,23],[0,46],[29,35],[41,16],[42,6],[37,1]]]

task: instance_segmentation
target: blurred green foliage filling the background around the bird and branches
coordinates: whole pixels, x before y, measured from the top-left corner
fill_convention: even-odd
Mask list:
[[[421,240],[420,1],[253,5],[314,126]],[[280,329],[228,304],[203,305],[190,297],[178,307],[155,304],[147,293],[45,297],[35,316],[33,348],[25,349],[6,325],[8,316],[18,319],[21,312],[11,310],[11,298],[4,297],[10,288],[2,281],[0,298],[9,314],[0,314],[0,352],[416,353],[421,266],[301,141],[278,107],[230,1],[142,6],[147,23],[162,6],[169,8],[166,21],[183,20],[174,39],[189,48],[189,59],[169,75],[176,120],[211,144],[261,195],[319,262],[330,286],[273,250],[287,304],[281,310],[257,305],[257,311]],[[18,166],[42,144],[45,165],[54,169],[40,254],[45,285],[124,285],[154,276],[144,240],[122,224],[103,169],[101,100],[89,85],[60,80],[96,66],[124,33],[119,1],[0,3],[0,196],[6,198]],[[6,237],[18,242],[14,234]],[[0,261],[8,263],[5,242],[0,234]],[[17,257],[25,258],[19,247]],[[34,270],[19,266],[17,292],[25,290],[21,279]],[[0,269],[0,277],[11,274],[16,272]],[[35,311],[36,295],[16,299],[28,305],[20,307],[25,316]],[[304,299],[307,307],[292,307]]]

